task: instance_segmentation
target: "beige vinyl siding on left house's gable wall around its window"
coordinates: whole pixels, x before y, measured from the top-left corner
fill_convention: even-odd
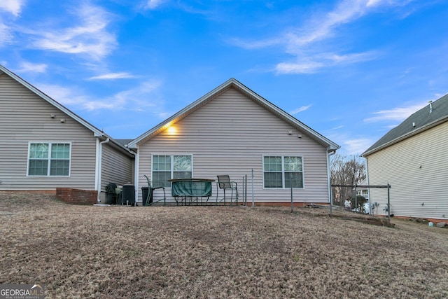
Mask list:
[[[29,141],[71,142],[71,175],[27,176]],[[0,75],[0,190],[94,190],[95,149],[93,132],[13,78]]]

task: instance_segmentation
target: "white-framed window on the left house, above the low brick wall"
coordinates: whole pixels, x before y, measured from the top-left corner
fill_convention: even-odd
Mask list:
[[[30,142],[29,176],[69,176],[71,144]]]

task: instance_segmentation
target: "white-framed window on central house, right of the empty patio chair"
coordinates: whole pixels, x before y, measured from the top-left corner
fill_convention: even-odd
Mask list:
[[[296,156],[264,156],[265,188],[303,188],[303,161]]]

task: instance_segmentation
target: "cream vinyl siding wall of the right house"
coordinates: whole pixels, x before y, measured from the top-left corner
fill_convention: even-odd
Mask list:
[[[447,146],[448,123],[443,123],[367,156],[370,185],[391,184],[391,214],[448,217]],[[370,200],[385,214],[386,190],[371,188]]]

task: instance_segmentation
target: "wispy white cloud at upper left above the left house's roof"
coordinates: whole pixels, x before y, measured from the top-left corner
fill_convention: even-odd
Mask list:
[[[98,6],[84,4],[73,12],[73,27],[32,32],[38,36],[33,46],[43,50],[89,55],[95,60],[116,48],[115,34],[107,31],[109,14]]]

